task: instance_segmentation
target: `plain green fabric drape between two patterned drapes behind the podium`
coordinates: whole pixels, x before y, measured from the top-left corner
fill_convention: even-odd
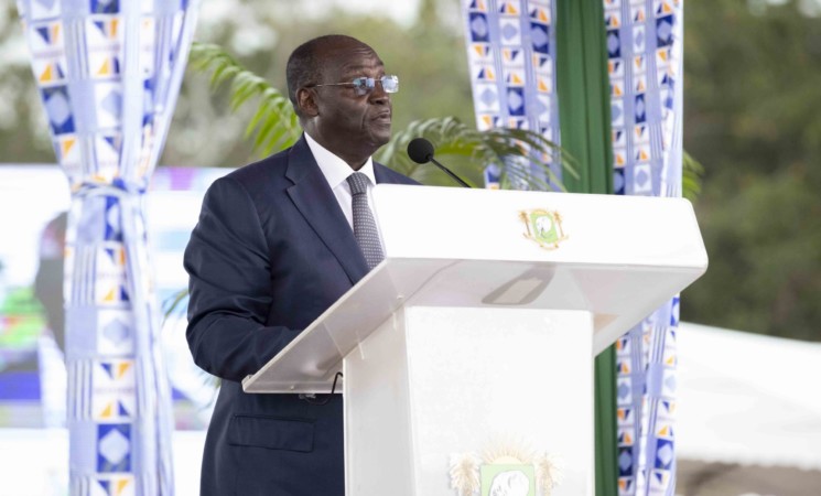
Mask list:
[[[609,79],[602,0],[557,3],[557,86],[561,144],[579,160],[573,193],[613,193]],[[618,494],[615,351],[595,360],[596,495]]]

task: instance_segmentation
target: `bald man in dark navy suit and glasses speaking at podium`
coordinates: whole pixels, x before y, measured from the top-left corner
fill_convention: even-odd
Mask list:
[[[368,272],[346,177],[361,172],[370,187],[413,183],[370,158],[390,138],[397,89],[370,46],[341,35],[309,41],[288,61],[302,139],[205,195],[185,250],[188,345],[196,364],[223,379],[203,495],[345,493],[341,395],[320,405],[247,395],[240,381]]]

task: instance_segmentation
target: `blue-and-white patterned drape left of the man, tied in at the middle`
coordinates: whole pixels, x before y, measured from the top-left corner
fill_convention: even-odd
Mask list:
[[[66,233],[72,495],[171,495],[171,392],[144,193],[173,115],[197,0],[19,0]]]

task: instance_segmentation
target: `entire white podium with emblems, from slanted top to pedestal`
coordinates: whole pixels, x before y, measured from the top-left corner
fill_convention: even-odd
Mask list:
[[[593,357],[706,270],[690,203],[374,201],[386,260],[244,389],[328,392],[343,370],[348,495],[593,495]]]

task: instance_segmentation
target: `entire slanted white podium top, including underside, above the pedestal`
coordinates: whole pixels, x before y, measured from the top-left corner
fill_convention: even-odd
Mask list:
[[[374,209],[386,259],[246,391],[327,391],[342,359],[411,305],[590,311],[593,356],[707,265],[681,198],[378,185]]]

